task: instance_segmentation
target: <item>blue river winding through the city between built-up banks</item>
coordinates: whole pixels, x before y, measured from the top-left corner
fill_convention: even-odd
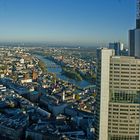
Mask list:
[[[67,77],[65,75],[62,75],[62,73],[61,73],[62,68],[58,64],[56,64],[55,62],[53,62],[51,60],[46,59],[44,56],[41,56],[41,55],[35,55],[35,56],[37,58],[39,58],[40,60],[42,60],[47,66],[47,71],[51,72],[51,73],[55,73],[57,78],[60,78],[61,80],[73,83],[76,86],[79,86],[81,88],[84,88],[84,87],[87,87],[87,86],[91,85],[91,83],[89,83],[86,80],[76,81],[76,80],[71,79],[71,78],[69,78],[69,77]]]

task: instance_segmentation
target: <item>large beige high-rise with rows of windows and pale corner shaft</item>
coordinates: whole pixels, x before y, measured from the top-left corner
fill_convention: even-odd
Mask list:
[[[96,140],[140,140],[140,59],[97,51]]]

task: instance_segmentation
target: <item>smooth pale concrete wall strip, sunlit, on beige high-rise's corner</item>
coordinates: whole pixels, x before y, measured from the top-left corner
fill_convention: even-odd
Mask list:
[[[110,57],[113,54],[114,54],[113,50],[103,49],[101,51],[99,140],[108,140]]]

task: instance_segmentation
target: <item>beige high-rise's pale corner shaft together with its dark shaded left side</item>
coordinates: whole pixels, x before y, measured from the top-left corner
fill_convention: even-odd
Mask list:
[[[109,49],[97,50],[96,140],[108,140],[109,71],[114,53]]]

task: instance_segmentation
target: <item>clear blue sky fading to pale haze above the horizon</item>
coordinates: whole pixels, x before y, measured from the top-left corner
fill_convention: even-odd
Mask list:
[[[0,0],[0,41],[98,45],[135,28],[136,0]]]

